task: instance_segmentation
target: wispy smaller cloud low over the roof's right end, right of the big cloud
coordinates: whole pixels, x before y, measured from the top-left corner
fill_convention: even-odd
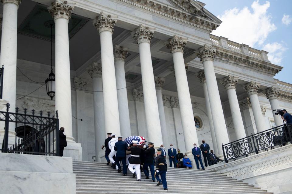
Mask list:
[[[264,45],[262,50],[269,52],[268,58],[271,63],[281,65],[283,53],[287,50],[287,48],[279,42],[273,42]]]

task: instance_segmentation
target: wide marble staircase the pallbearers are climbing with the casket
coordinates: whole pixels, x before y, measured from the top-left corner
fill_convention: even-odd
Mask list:
[[[116,170],[99,162],[73,161],[73,172],[76,174],[76,193],[180,193],[180,194],[272,194],[266,190],[248,185],[242,181],[232,179],[215,171],[169,168],[166,174],[168,191],[162,185],[156,186],[151,177],[145,180],[141,173],[141,182],[132,178],[128,169],[128,176],[123,171]]]

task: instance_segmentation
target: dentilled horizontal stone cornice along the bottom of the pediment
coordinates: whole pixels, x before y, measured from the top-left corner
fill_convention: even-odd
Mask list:
[[[185,23],[187,25],[194,26],[196,28],[203,29],[207,32],[212,32],[216,29],[220,23],[213,22],[210,19],[205,18],[203,15],[204,13],[199,10],[199,12],[194,13],[186,13],[182,10],[176,8],[170,8],[167,5],[161,5],[159,3],[150,1],[150,0],[119,0],[120,2],[126,3],[128,5],[132,5],[146,11],[162,15],[167,18],[171,18],[178,22]],[[199,15],[198,15],[199,14]],[[201,15],[201,16],[200,16]]]

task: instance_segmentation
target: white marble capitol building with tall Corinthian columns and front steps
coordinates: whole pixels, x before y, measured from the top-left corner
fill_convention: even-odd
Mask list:
[[[1,193],[292,193],[292,128],[275,128],[283,125],[276,109],[292,112],[292,84],[274,78],[283,67],[269,51],[212,35],[222,21],[203,2],[1,4],[0,146],[8,152],[0,153]],[[53,136],[43,139],[44,154],[13,151],[28,135],[23,126],[35,128],[18,114],[64,127],[64,157],[56,156],[57,131],[46,132]],[[31,130],[45,134],[51,121]],[[143,136],[155,148],[172,144],[195,167],[193,144],[204,139],[224,162],[206,171],[170,168],[173,189],[151,192],[155,185],[127,183],[105,165],[108,132]],[[209,185],[192,185],[198,181]]]

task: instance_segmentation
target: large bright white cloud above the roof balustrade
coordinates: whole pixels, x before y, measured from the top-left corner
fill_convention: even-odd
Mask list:
[[[223,15],[217,16],[222,23],[212,34],[251,47],[255,43],[262,45],[269,33],[276,30],[271,16],[267,14],[269,6],[269,2],[260,5],[259,1],[254,1],[251,5],[252,11],[248,7],[241,10],[228,9]]]

